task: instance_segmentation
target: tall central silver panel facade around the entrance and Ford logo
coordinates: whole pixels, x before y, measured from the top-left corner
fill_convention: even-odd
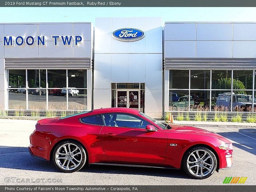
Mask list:
[[[139,29],[145,37],[118,41],[112,33],[120,28]],[[145,113],[161,118],[162,83],[156,86],[156,82],[162,82],[161,18],[96,18],[94,50],[94,108],[111,107],[111,83],[145,83]],[[102,93],[107,93],[102,89],[108,90],[109,98],[102,100]]]

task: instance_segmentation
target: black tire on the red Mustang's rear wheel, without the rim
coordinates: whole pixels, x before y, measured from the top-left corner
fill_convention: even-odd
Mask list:
[[[73,145],[76,145],[78,147],[77,151],[81,151],[81,162],[80,164],[76,167],[76,168],[72,168],[71,170],[67,170],[65,169],[65,166],[63,168],[61,168],[59,166],[59,164],[57,163],[57,160],[56,160],[56,153],[57,153],[57,150],[63,146],[63,145],[68,145],[68,144],[71,144],[71,146]],[[79,152],[80,152],[79,151]],[[75,152],[74,152],[75,153]],[[80,155],[80,154],[79,154]],[[86,163],[87,161],[87,154],[86,154],[86,151],[84,150],[83,146],[81,144],[79,144],[78,142],[76,141],[63,141],[61,142],[60,144],[58,144],[54,151],[53,151],[53,155],[52,155],[52,160],[53,160],[53,163],[54,165],[61,171],[61,172],[66,172],[66,173],[72,173],[72,172],[76,172],[76,171],[79,171],[80,169],[83,168],[84,164]],[[74,160],[74,159],[73,159]],[[72,165],[72,164],[71,164]],[[67,166],[66,166],[67,167]],[[75,166],[74,166],[75,167]]]

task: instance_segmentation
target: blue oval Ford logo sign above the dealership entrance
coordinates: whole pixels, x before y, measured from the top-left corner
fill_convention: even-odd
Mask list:
[[[145,36],[145,33],[139,29],[123,28],[114,31],[112,36],[119,41],[138,41]]]

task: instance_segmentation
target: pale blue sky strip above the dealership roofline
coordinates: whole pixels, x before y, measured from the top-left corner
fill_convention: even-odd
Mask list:
[[[97,17],[162,17],[166,21],[256,22],[254,7],[1,7],[0,23],[92,22]]]

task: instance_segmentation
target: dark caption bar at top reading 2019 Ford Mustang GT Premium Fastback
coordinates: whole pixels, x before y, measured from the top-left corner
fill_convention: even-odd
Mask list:
[[[1,0],[0,7],[256,7],[255,0]]]

